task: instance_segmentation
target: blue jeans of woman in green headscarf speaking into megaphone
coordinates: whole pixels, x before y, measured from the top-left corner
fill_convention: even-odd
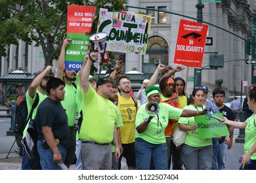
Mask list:
[[[167,170],[167,145],[151,144],[141,138],[135,139],[136,167],[138,170],[149,170],[151,159],[156,170]]]

